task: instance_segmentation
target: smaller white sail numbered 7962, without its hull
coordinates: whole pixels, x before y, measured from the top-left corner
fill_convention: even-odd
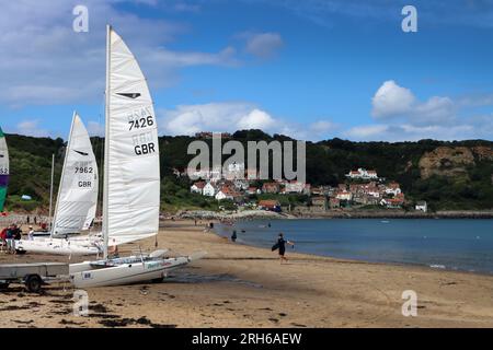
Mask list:
[[[53,235],[88,230],[98,203],[98,164],[88,130],[74,113],[55,208]]]

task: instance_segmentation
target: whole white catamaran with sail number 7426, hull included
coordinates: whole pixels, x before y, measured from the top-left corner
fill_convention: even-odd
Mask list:
[[[103,259],[70,265],[76,288],[162,279],[194,257],[165,250],[108,258],[108,246],[156,236],[159,231],[160,166],[152,98],[140,67],[111,26],[106,33],[103,185]],[[200,256],[196,256],[199,258]]]

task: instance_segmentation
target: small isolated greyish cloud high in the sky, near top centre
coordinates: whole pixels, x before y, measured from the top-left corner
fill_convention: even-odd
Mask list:
[[[237,35],[237,37],[246,39],[246,52],[262,59],[274,57],[284,46],[283,38],[278,33],[244,32]]]

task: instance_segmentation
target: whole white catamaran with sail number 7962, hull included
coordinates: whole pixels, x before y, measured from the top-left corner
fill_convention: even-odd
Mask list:
[[[69,140],[49,237],[20,240],[16,249],[56,255],[92,255],[101,253],[102,238],[94,235],[69,235],[87,232],[96,212],[98,164],[88,130],[73,113]]]

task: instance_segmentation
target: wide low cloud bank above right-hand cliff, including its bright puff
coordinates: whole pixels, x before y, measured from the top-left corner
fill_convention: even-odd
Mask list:
[[[466,109],[490,102],[489,95],[467,96],[458,101],[432,96],[420,102],[411,90],[389,80],[372,97],[371,114],[378,124],[356,126],[342,135],[367,141],[491,139],[493,117],[471,117]]]

